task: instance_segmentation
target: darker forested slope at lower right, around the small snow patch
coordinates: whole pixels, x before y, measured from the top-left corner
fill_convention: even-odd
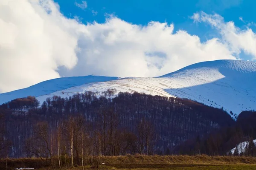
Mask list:
[[[256,139],[256,112],[243,111],[239,114],[236,123],[230,127],[223,127],[201,138],[187,140],[175,147],[176,154],[207,154],[234,155],[234,156],[256,156],[256,146],[253,139]],[[247,141],[244,149],[236,148],[240,142]],[[229,152],[236,148],[235,153]],[[241,151],[242,150],[242,151]]]

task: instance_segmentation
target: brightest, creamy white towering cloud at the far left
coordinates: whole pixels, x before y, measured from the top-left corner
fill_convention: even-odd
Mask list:
[[[60,65],[73,68],[77,26],[52,1],[0,0],[0,92],[60,77]]]

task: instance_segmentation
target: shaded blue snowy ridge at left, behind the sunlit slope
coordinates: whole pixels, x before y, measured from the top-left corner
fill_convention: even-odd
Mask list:
[[[119,79],[119,77],[105,77],[105,76],[83,76],[83,77],[62,77],[58,79],[50,79],[32,85],[28,88],[23,88],[16,91],[0,94],[0,105],[9,102],[12,99],[17,99],[26,96],[42,96],[51,94],[55,91],[61,91],[78,85],[83,85],[91,82],[104,82],[109,80]]]

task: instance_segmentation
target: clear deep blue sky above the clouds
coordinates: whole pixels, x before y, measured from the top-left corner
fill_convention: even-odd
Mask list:
[[[78,16],[84,24],[93,21],[104,23],[106,15],[112,14],[139,25],[147,25],[150,21],[173,23],[175,31],[186,30],[203,41],[215,36],[215,32],[210,30],[209,25],[193,23],[190,16],[195,12],[217,13],[224,17],[225,22],[233,21],[240,28],[256,21],[255,0],[86,0],[87,7],[84,9],[76,6],[76,3],[82,4],[82,0],[55,2],[59,4],[62,14],[71,18]],[[256,28],[250,27],[253,30]]]

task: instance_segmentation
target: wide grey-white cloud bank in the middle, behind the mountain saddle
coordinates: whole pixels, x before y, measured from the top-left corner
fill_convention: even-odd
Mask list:
[[[174,33],[173,24],[150,22],[138,26],[110,17],[106,23],[88,24],[82,30],[79,62],[71,71],[60,69],[61,75],[153,77],[195,62],[235,59],[218,39],[201,42],[186,31]]]

